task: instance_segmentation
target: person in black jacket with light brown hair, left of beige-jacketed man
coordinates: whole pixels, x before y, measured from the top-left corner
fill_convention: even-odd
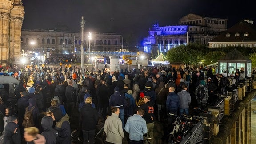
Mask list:
[[[97,110],[92,108],[92,97],[85,99],[85,104],[80,110],[79,115],[79,127],[82,128],[84,144],[94,144],[94,135],[96,130],[96,124],[99,117]]]

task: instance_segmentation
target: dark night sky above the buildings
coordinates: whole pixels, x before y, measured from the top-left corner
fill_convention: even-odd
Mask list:
[[[252,0],[22,0],[25,7],[23,29],[54,29],[57,24],[80,32],[84,16],[85,32],[115,32],[136,38],[148,36],[156,21],[159,26],[176,25],[194,13],[227,18],[228,28],[244,18],[256,22]],[[232,2],[232,3],[231,3]]]

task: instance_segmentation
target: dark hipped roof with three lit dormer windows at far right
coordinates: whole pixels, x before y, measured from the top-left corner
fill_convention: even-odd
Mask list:
[[[248,33],[248,36],[244,36],[245,33]],[[227,37],[227,34],[230,34]],[[239,36],[235,36],[239,34]],[[256,41],[256,27],[245,20],[233,25],[227,31],[221,33],[219,36],[212,39],[211,42],[246,42],[246,41]]]

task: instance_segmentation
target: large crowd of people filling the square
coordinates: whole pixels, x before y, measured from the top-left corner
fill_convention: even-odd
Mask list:
[[[216,93],[224,94],[228,85],[239,84],[242,80],[239,70],[230,84],[222,74],[213,75],[211,68],[207,68],[205,74],[202,68],[162,66],[121,69],[113,73],[99,70],[96,74],[85,69],[81,77],[83,83],[78,85],[80,69],[70,64],[60,68],[18,70],[20,75],[13,75],[20,80],[15,89],[16,112],[5,104],[6,94],[0,91],[1,144],[25,141],[28,144],[71,144],[71,121],[76,121],[75,111],[79,112],[84,144],[95,143],[100,118],[105,121],[105,141],[109,144],[123,143],[125,133],[129,144],[143,144],[146,139],[154,144],[156,121],[167,121],[172,127],[174,116],[192,114],[193,100],[196,100],[193,107],[213,105]],[[12,68],[9,71],[17,72]],[[34,80],[28,90],[25,74]],[[47,105],[47,96],[52,98],[50,105]],[[168,140],[168,133],[165,131],[163,140]]]

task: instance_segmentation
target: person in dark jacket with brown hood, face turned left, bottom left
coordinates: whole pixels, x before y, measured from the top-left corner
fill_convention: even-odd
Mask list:
[[[56,121],[54,129],[58,131],[57,144],[71,144],[71,128],[68,114],[62,115],[60,108],[52,110],[52,119]]]

